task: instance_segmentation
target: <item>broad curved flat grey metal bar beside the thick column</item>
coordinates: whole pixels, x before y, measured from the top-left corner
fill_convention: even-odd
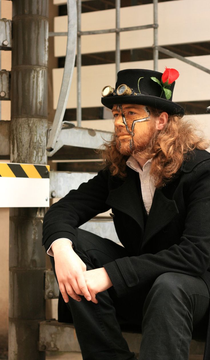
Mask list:
[[[47,142],[47,151],[52,151],[55,148],[57,138],[59,136],[62,120],[66,109],[66,103],[69,97],[71,80],[73,77],[75,56],[76,56],[76,38],[77,38],[77,10],[76,0],[67,0],[68,10],[68,31],[67,31],[67,47],[66,59],[64,66],[64,75],[61,84],[61,91],[55,113],[55,118],[52,124],[52,130]]]

